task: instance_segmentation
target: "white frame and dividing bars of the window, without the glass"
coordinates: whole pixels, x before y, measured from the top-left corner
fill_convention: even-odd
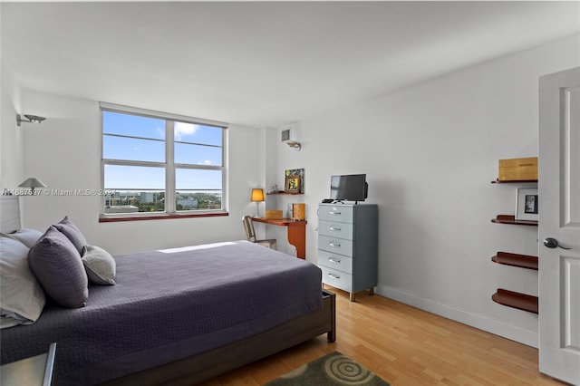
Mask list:
[[[105,165],[121,165],[121,166],[144,166],[165,169],[165,197],[172,198],[165,200],[165,211],[163,212],[133,212],[133,213],[105,213],[104,196],[101,199],[99,215],[101,219],[126,219],[128,217],[134,219],[147,218],[161,218],[161,217],[208,217],[217,215],[227,215],[227,127],[226,122],[210,121],[200,118],[193,118],[179,114],[171,114],[160,111],[150,111],[139,109],[130,106],[123,106],[119,104],[99,102],[101,108],[101,187],[105,191]],[[142,117],[165,120],[165,162],[157,161],[141,161],[141,160],[125,160],[125,159],[105,159],[103,154],[103,111],[118,112],[121,114],[139,115]],[[181,164],[174,161],[175,137],[174,137],[174,122],[186,122],[203,126],[213,126],[223,130],[222,132],[222,159],[221,166],[218,165],[194,165]],[[150,140],[150,139],[147,139]],[[182,210],[177,211],[176,208],[176,187],[175,187],[175,170],[176,169],[207,169],[207,170],[221,170],[221,209],[204,209],[204,210]],[[147,190],[148,188],[143,188]],[[137,190],[137,189],[132,189]]]

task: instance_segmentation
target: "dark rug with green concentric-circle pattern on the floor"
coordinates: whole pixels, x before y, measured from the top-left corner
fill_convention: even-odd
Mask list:
[[[378,375],[369,372],[361,364],[348,359],[342,353],[333,352],[266,383],[266,386],[277,385],[389,386],[389,383],[382,381]]]

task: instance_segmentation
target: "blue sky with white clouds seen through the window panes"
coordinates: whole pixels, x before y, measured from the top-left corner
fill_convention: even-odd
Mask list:
[[[221,165],[222,129],[175,122],[175,162],[191,165]],[[137,115],[103,111],[103,133],[135,138],[103,136],[104,159],[165,162],[165,121]],[[183,143],[181,143],[183,142]],[[104,188],[156,188],[165,186],[165,169],[133,166],[105,166]],[[177,169],[176,188],[221,188],[218,170]]]

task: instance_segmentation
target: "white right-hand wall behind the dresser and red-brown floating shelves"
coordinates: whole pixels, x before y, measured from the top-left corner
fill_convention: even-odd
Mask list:
[[[495,304],[498,287],[537,294],[537,273],[493,264],[497,251],[536,255],[535,227],[492,224],[513,214],[517,186],[492,185],[498,159],[537,156],[538,77],[580,64],[578,35],[304,120],[307,258],[316,207],[333,174],[366,173],[379,205],[377,293],[537,345],[537,315]],[[428,65],[428,63],[425,63]],[[281,206],[282,208],[283,206]]]

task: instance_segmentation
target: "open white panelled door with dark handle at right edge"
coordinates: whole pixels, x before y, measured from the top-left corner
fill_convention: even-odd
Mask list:
[[[580,385],[580,67],[540,78],[539,367]]]

